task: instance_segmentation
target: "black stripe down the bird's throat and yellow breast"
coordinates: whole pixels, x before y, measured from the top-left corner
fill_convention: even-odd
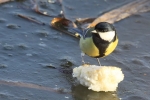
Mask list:
[[[116,34],[114,36],[114,39],[112,41],[105,41],[100,38],[99,34],[92,34],[93,42],[95,46],[99,49],[99,56],[96,56],[95,58],[104,57],[107,47],[111,42],[114,42],[116,40]]]

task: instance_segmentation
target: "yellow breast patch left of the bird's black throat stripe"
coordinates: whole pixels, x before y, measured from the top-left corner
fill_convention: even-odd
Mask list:
[[[88,37],[86,39],[83,39],[83,37],[81,37],[79,45],[80,45],[82,52],[84,52],[88,56],[91,56],[91,57],[99,56],[99,50],[94,45],[92,37]]]

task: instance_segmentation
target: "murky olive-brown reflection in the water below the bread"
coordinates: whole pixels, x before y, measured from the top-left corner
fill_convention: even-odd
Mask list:
[[[116,92],[94,92],[82,85],[73,86],[72,93],[75,100],[120,100]]]

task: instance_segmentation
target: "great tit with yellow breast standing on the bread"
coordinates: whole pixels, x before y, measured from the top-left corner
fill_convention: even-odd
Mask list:
[[[80,48],[86,55],[97,58],[108,56],[112,53],[117,44],[118,38],[114,26],[108,22],[100,22],[95,27],[77,31],[80,34]],[[82,56],[82,54],[81,54]],[[84,59],[82,57],[84,63]]]

